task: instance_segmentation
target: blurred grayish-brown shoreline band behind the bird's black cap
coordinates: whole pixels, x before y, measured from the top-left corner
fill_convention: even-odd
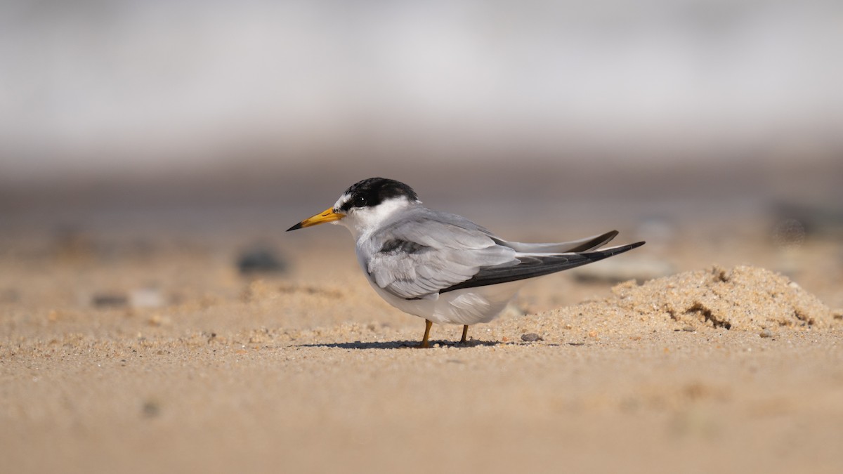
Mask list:
[[[178,172],[6,183],[0,188],[0,225],[110,221],[178,227],[186,219],[224,226],[238,214],[289,220],[332,204],[347,186],[373,175],[407,182],[428,206],[484,218],[555,213],[585,221],[664,217],[728,223],[799,207],[839,211],[843,202],[839,159],[807,164],[798,159],[674,164],[513,159],[485,164],[352,157],[322,159],[317,166],[244,159]]]

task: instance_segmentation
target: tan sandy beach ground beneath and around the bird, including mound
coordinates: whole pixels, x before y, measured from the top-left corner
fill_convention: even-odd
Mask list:
[[[374,294],[341,232],[282,235],[286,267],[246,276],[236,245],[9,245],[0,471],[843,469],[843,320],[814,294],[840,279],[819,263],[802,283],[732,265],[753,261],[739,246],[646,283],[598,263],[417,350],[423,321]],[[693,268],[676,256],[704,246],[629,257]]]

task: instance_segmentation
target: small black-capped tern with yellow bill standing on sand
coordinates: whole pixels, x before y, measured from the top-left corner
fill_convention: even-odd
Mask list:
[[[357,261],[375,292],[395,308],[424,318],[416,347],[430,347],[433,323],[469,326],[497,318],[530,278],[632,250],[645,242],[598,250],[618,231],[580,240],[529,244],[504,240],[462,216],[427,208],[397,180],[368,178],[332,207],[287,232],[341,224],[356,241]]]

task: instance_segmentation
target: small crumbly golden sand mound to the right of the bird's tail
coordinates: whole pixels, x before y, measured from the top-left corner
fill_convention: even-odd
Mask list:
[[[692,327],[759,331],[779,326],[827,327],[839,320],[828,306],[797,283],[757,267],[734,267],[679,273],[612,288],[624,312],[661,314]]]

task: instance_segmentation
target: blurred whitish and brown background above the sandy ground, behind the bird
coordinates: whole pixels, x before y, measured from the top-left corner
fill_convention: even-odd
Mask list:
[[[282,231],[383,175],[513,240],[619,228],[669,271],[792,274],[819,245],[837,278],[841,25],[824,0],[7,0],[4,251],[290,254],[346,242]]]

